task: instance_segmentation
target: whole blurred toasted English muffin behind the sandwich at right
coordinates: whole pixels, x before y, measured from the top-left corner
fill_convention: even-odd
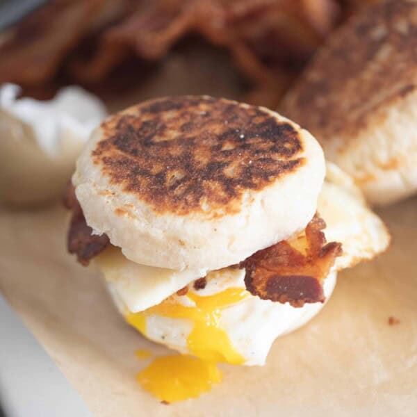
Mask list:
[[[385,0],[329,37],[280,111],[372,204],[417,191],[417,3]]]

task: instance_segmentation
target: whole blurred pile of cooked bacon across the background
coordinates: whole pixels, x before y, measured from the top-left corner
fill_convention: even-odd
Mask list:
[[[183,76],[192,85],[193,72],[208,71],[207,56],[217,59],[220,54],[233,63],[239,76],[219,70],[201,92],[216,92],[211,85],[215,77],[229,79],[230,84],[238,79],[241,85],[236,92],[243,91],[241,99],[275,107],[329,33],[372,2],[49,1],[0,34],[0,83],[17,83],[25,94],[41,99],[62,85],[79,83],[106,101],[117,101],[117,95],[129,95],[137,85],[152,83],[149,74],[161,73],[170,56],[180,57],[174,66],[186,73]],[[211,79],[211,74],[206,78]],[[235,98],[236,92],[231,87],[229,95]]]

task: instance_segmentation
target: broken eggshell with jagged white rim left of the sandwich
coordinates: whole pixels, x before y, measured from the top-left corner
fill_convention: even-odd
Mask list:
[[[97,97],[79,87],[50,101],[17,99],[0,87],[0,201],[28,205],[60,197],[92,129],[106,115]]]

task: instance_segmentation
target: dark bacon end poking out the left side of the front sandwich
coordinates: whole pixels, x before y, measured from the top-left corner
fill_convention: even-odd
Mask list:
[[[81,265],[88,265],[91,259],[110,244],[106,234],[93,235],[92,228],[85,222],[83,211],[76,199],[74,187],[71,185],[63,201],[65,207],[72,210],[70,229],[67,235],[67,250],[70,254],[76,254],[76,259]]]

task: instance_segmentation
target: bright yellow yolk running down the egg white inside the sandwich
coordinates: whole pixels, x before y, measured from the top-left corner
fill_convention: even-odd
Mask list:
[[[146,334],[146,316],[157,314],[169,318],[185,318],[193,321],[193,330],[187,338],[188,350],[196,357],[211,362],[241,364],[245,359],[234,350],[229,336],[220,328],[220,313],[224,307],[247,297],[243,288],[228,288],[214,295],[186,295],[195,306],[183,306],[168,298],[141,313],[129,313],[127,322]]]

